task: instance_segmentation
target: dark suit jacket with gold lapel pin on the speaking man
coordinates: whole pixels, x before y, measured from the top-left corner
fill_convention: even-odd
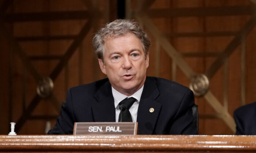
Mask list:
[[[197,134],[193,124],[194,95],[187,87],[147,77],[138,108],[138,134]],[[150,113],[149,109],[154,108]],[[72,134],[74,122],[115,122],[114,98],[108,80],[68,90],[56,125],[48,134]]]

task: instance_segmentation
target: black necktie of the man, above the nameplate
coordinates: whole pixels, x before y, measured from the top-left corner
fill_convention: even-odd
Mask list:
[[[135,101],[135,98],[130,97],[125,98],[123,101],[119,103],[120,114],[118,122],[132,122],[132,116],[129,109]]]

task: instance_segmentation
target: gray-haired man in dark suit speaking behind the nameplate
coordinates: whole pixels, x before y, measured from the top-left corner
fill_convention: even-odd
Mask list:
[[[120,103],[130,97],[128,113],[130,121],[138,122],[138,134],[197,134],[192,91],[146,76],[150,39],[138,23],[115,20],[95,34],[93,43],[108,78],[69,89],[48,134],[72,134],[74,122],[118,122]]]

